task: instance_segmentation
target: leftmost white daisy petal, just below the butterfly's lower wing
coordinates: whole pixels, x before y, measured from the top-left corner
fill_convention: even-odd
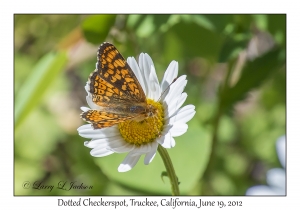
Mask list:
[[[80,136],[91,139],[121,136],[117,126],[111,126],[102,129],[94,129],[90,124],[86,124],[80,126],[77,130]]]

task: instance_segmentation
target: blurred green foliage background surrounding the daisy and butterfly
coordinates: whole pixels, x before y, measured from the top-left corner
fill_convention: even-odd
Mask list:
[[[168,150],[181,195],[244,195],[281,167],[285,15],[15,15],[14,40],[15,195],[171,194],[159,155],[119,173],[126,154],[92,157],[77,133],[104,41],[125,58],[148,53],[159,80],[172,60],[187,75],[196,115]],[[71,182],[87,188],[57,187]]]

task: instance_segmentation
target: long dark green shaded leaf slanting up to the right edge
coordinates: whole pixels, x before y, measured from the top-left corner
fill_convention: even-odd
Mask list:
[[[276,48],[246,64],[238,82],[219,92],[221,109],[226,110],[244,99],[250,90],[258,87],[274,71],[284,65],[282,51]]]

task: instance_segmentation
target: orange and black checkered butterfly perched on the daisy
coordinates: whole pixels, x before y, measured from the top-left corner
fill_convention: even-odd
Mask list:
[[[88,91],[99,109],[81,113],[94,129],[127,120],[143,121],[157,110],[147,98],[134,72],[113,44],[104,42],[97,52],[96,69],[88,79]]]

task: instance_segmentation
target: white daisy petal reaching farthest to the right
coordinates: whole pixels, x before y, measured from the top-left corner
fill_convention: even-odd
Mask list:
[[[171,118],[167,120],[167,124],[177,123],[187,123],[190,121],[195,115],[195,106],[194,105],[186,105],[179,109]]]

